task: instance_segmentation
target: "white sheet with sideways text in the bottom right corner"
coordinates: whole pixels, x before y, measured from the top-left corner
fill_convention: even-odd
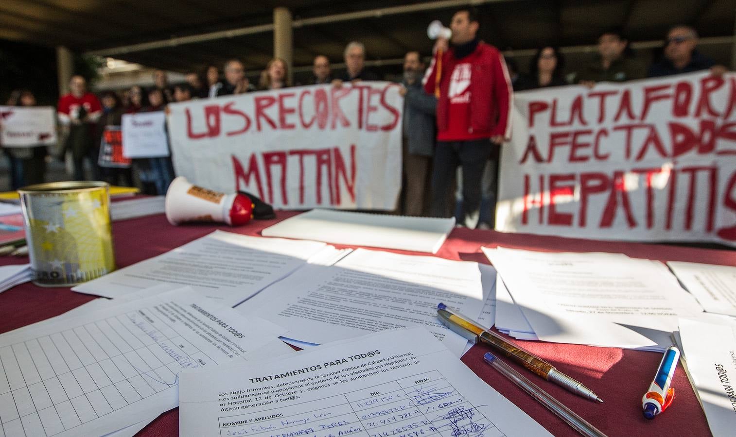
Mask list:
[[[736,430],[736,321],[680,319],[682,354],[713,436]]]

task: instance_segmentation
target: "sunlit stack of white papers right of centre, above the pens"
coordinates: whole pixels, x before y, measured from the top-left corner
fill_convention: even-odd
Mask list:
[[[496,327],[515,338],[663,351],[702,309],[659,262],[610,253],[483,248],[498,270]]]

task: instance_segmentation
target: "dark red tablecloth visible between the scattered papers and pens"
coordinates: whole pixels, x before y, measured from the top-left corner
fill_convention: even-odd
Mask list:
[[[293,214],[279,213],[278,219]],[[274,224],[278,219],[254,221],[240,228],[206,224],[172,227],[163,215],[116,221],[113,224],[113,240],[117,265],[118,267],[130,266],[132,263],[160,255],[216,229],[258,235],[264,227]],[[451,260],[488,263],[481,253],[481,245],[545,251],[620,252],[632,257],[653,260],[696,261],[736,266],[736,252],[726,250],[504,234],[467,229],[453,230],[437,256]],[[416,255],[415,252],[403,253]],[[0,265],[27,262],[27,258],[0,257]],[[74,293],[69,288],[40,288],[31,283],[18,285],[0,294],[0,333],[57,316],[91,299],[94,297]],[[666,413],[657,416],[653,421],[643,418],[641,397],[654,377],[659,360],[662,358],[661,354],[539,341],[520,341],[519,343],[553,363],[557,369],[581,381],[605,400],[604,404],[596,404],[531,376],[531,379],[536,380],[539,386],[545,388],[550,394],[609,436],[653,436],[663,433],[669,436],[707,436],[710,434],[705,415],[682,367],[677,369],[672,383],[676,391],[673,405]],[[551,433],[556,436],[576,435],[567,424],[487,366],[482,360],[484,352],[486,352],[484,347],[475,346],[462,360],[486,383],[511,399],[514,404],[526,411]],[[521,372],[526,371],[521,370]],[[178,414],[178,409],[162,414],[139,435],[176,436],[179,429]]]

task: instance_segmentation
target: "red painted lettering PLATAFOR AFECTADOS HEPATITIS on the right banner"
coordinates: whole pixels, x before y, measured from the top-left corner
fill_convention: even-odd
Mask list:
[[[634,92],[640,96],[633,96]],[[539,225],[604,229],[612,227],[616,215],[623,213],[629,228],[652,229],[659,214],[664,230],[672,230],[673,215],[679,211],[683,230],[693,230],[694,217],[701,213],[704,231],[736,241],[736,224],[716,229],[719,208],[736,213],[736,166],[718,165],[736,155],[736,121],[732,118],[736,116],[736,77],[673,81],[643,90],[591,90],[565,104],[557,98],[531,100],[526,116],[529,135],[518,161],[522,167],[529,163],[544,168],[560,161],[590,163],[590,167],[554,174],[523,173],[520,224],[530,224],[534,214]],[[649,122],[651,118],[659,119]],[[539,141],[537,130],[548,138]],[[705,165],[688,162],[693,156],[712,161]],[[653,160],[668,165],[652,166]],[[596,171],[595,163],[606,161],[629,164],[622,168],[609,164],[602,166],[606,171]],[[631,202],[627,174],[642,180],[643,194],[637,195],[643,196],[643,202]],[[656,184],[660,193],[654,184],[657,177],[667,181],[664,186]],[[726,183],[719,195],[723,180]],[[559,206],[569,203],[576,193],[574,211],[570,207],[561,211]],[[591,199],[596,195],[601,196],[604,207],[598,216],[590,217]],[[655,207],[657,195],[666,197],[666,210]],[[707,210],[696,207],[698,196],[707,198]],[[635,218],[637,203],[645,209],[641,223]]]

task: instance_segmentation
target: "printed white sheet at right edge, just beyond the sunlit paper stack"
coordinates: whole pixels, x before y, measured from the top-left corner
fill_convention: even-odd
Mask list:
[[[679,261],[667,264],[704,310],[736,316],[736,267]]]

